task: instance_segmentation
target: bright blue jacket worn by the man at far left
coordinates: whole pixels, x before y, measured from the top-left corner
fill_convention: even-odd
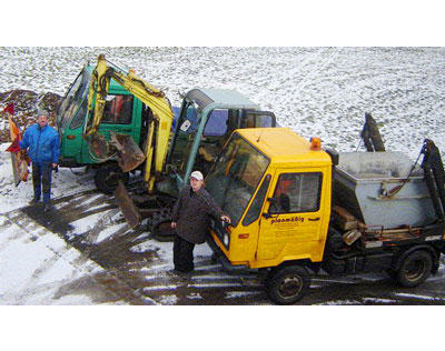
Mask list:
[[[20,149],[27,148],[32,162],[58,163],[59,161],[59,134],[48,124],[43,128],[33,124],[24,131]]]

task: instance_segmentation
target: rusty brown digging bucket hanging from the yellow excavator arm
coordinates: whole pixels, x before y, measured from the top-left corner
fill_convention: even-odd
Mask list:
[[[118,163],[123,172],[129,172],[141,164],[146,157],[131,136],[110,132],[110,142],[118,150]]]

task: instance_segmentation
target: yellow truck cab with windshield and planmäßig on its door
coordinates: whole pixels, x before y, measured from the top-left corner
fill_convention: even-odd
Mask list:
[[[214,221],[209,244],[224,264],[250,269],[323,260],[332,159],[287,128],[237,130],[206,179],[231,218]]]

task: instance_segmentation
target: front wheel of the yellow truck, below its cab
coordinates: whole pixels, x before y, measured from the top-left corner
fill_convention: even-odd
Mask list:
[[[300,265],[289,265],[273,270],[266,279],[266,291],[278,304],[293,304],[309,289],[310,277]]]

